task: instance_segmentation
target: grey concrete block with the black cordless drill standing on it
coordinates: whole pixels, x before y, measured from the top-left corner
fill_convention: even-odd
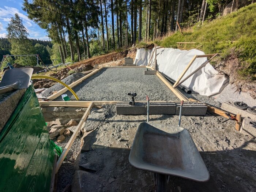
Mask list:
[[[116,114],[118,115],[144,115],[146,114],[145,103],[137,102],[135,105],[129,105],[129,102],[116,104]]]

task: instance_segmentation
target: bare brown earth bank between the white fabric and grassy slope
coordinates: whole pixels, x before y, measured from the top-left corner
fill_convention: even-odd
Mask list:
[[[219,73],[229,77],[229,83],[234,84],[237,91],[248,92],[253,99],[256,99],[256,82],[248,78],[241,79],[241,76],[237,73],[239,69],[242,69],[241,62],[235,53],[230,53],[225,61],[217,61],[217,65],[214,67]]]

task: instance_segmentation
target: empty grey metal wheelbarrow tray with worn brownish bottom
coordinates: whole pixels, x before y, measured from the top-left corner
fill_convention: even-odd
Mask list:
[[[207,181],[209,172],[187,129],[143,122],[136,132],[129,162],[151,172]]]

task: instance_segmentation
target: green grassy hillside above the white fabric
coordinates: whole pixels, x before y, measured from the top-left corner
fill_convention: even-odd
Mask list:
[[[217,43],[225,41],[224,43]],[[230,44],[226,41],[236,41]],[[177,48],[176,42],[197,42],[205,53],[220,53],[222,61],[236,54],[240,61],[237,73],[241,79],[256,80],[256,3],[227,16],[215,19],[203,27],[180,32],[155,42],[160,46]]]

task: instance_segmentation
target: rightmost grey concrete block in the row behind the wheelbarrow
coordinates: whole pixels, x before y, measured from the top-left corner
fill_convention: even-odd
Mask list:
[[[180,103],[176,103],[177,109],[176,109],[176,115],[180,114]],[[188,116],[196,116],[196,115],[205,115],[207,111],[207,106],[203,103],[184,103],[182,106],[182,115],[188,115]]]

